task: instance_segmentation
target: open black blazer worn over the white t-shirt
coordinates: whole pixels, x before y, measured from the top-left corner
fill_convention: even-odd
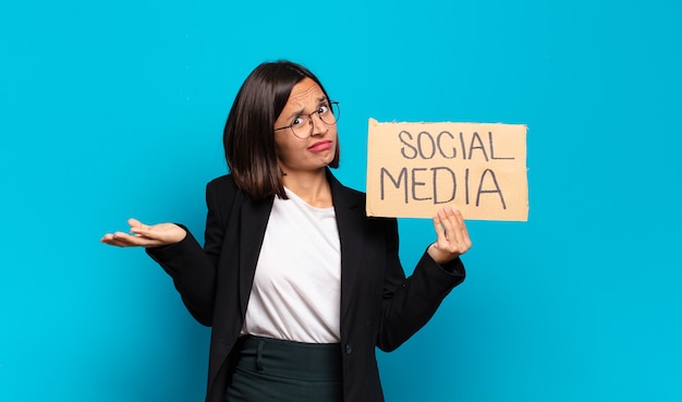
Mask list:
[[[440,266],[424,253],[405,278],[397,220],[367,217],[365,195],[327,176],[341,241],[343,399],[381,402],[375,348],[392,351],[422,328],[464,280],[464,266],[459,258]],[[178,244],[147,248],[194,318],[212,326],[207,402],[224,400],[272,200],[249,199],[231,175],[215,179],[206,187],[204,248],[188,231]]]

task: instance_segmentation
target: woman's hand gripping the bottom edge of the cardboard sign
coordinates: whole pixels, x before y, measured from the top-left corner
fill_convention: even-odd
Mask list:
[[[455,207],[444,207],[434,217],[438,239],[428,247],[428,255],[438,264],[446,264],[466,253],[472,241],[468,239],[462,212]]]

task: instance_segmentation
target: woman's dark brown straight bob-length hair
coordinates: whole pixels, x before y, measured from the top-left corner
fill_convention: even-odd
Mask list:
[[[252,199],[279,196],[287,199],[283,172],[277,159],[275,121],[294,85],[313,80],[329,99],[319,80],[304,66],[290,61],[258,65],[240,88],[222,135],[224,155],[234,184]],[[331,168],[339,167],[339,142]]]

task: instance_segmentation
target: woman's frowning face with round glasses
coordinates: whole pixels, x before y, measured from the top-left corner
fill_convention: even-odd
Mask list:
[[[291,129],[275,131],[277,157],[284,173],[319,170],[333,160],[337,149],[337,124],[326,124],[317,113],[329,107],[329,99],[315,81],[305,78],[294,85],[284,109],[275,121],[273,129],[285,127],[292,123],[300,124],[307,120],[312,124],[296,129],[299,136],[305,137],[309,134],[305,139],[296,137]],[[301,135],[301,129],[304,129],[304,135]]]

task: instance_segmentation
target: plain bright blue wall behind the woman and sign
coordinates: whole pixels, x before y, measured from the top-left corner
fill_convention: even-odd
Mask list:
[[[379,353],[387,400],[682,400],[679,1],[7,1],[0,5],[0,401],[200,401],[208,329],[133,216],[197,235],[258,63],[367,119],[528,125],[528,222],[471,221],[468,278]],[[434,237],[401,220],[410,272]]]

